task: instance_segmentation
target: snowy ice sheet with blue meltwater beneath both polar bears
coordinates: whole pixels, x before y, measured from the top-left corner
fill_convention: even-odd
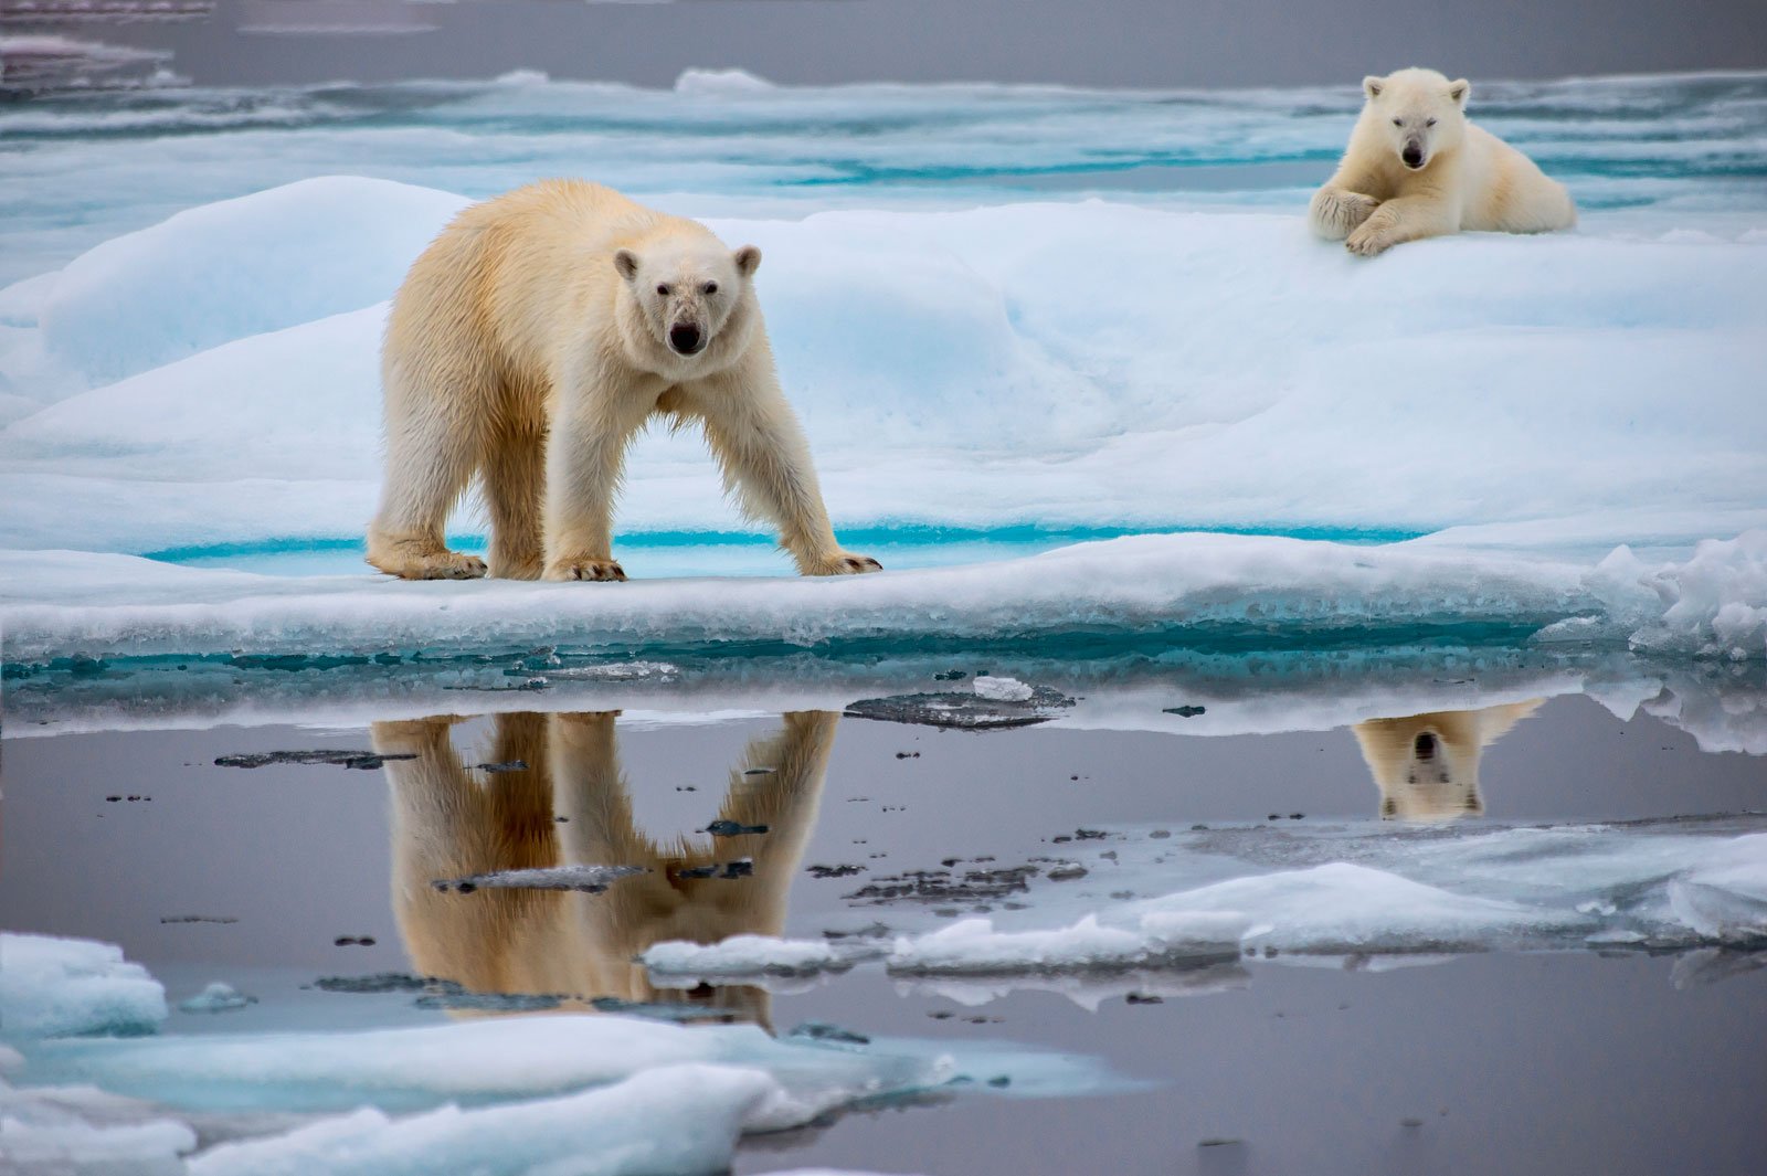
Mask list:
[[[1732,178],[1760,154],[1767,79],[1481,87],[1486,122],[1569,178],[1580,230],[1378,263],[1308,237],[1304,182],[1258,178],[1329,166],[1355,109],[1341,90],[792,90],[712,71],[668,94],[512,76],[364,106],[286,90],[9,109],[0,127],[42,147],[0,182],[28,210],[0,230],[7,256],[34,265],[0,290],[0,496],[32,503],[0,517],[7,659],[519,641],[608,611],[631,636],[673,632],[679,607],[687,639],[1048,629],[1057,597],[1078,629],[1196,625],[1244,599],[1240,620],[1276,627],[1502,616],[1562,641],[1763,657],[1767,201]],[[359,124],[378,102],[391,141]],[[1640,108],[1673,132],[1642,145],[1612,117]],[[154,161],[159,136],[217,125],[239,129],[233,157],[187,136],[187,166]],[[880,134],[843,134],[859,125]],[[459,136],[507,150],[447,162]],[[836,524],[892,567],[986,558],[1007,533],[1267,535],[765,588],[737,593],[728,625],[679,584],[371,577],[355,544],[380,473],[385,300],[468,198],[583,157],[762,245]],[[1249,187],[1186,187],[1194,166],[1242,168]],[[1168,168],[1175,189],[1080,200],[1012,178],[1119,168]],[[78,224],[55,212],[76,177],[115,192],[78,201]],[[650,546],[627,570],[643,577],[647,554],[680,569],[668,544],[700,537],[698,570],[783,574],[728,542],[753,528],[717,486],[696,438],[645,438],[620,530]],[[456,526],[482,531],[474,503]],[[903,546],[951,528],[970,546]],[[302,551],[339,574],[235,570]],[[1424,556],[1438,577],[1380,583]],[[1373,583],[1341,574],[1362,563]],[[1168,590],[1126,609],[1138,577]]]

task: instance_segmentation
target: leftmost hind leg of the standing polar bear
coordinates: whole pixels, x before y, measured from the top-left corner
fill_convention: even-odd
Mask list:
[[[484,576],[484,560],[449,551],[442,531],[479,466],[479,422],[470,406],[470,394],[415,397],[387,373],[387,480],[368,528],[368,562],[382,572],[401,579]]]

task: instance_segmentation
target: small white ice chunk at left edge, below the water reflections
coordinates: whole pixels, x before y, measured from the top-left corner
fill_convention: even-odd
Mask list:
[[[122,948],[92,939],[0,934],[0,1033],[9,1038],[152,1033],[166,991]]]

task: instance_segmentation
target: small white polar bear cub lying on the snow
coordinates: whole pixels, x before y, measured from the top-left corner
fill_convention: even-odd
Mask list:
[[[1544,233],[1576,224],[1562,184],[1467,122],[1468,88],[1433,69],[1364,78],[1368,102],[1350,147],[1313,194],[1313,231],[1371,258],[1461,230]]]

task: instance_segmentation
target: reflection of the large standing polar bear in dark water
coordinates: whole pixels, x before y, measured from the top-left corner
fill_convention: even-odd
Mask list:
[[[613,715],[498,715],[493,763],[470,770],[449,742],[452,719],[376,722],[375,750],[392,788],[392,897],[412,966],[472,992],[544,992],[574,1001],[705,1003],[767,1022],[762,989],[659,991],[633,962],[652,943],[777,936],[786,892],[816,823],[839,715],[788,713],[749,742],[717,816],[767,833],[657,844],[633,823]],[[747,768],[770,768],[744,775]],[[749,878],[694,878],[751,858]],[[643,865],[604,893],[497,890],[444,893],[436,879],[564,863]],[[580,1006],[580,1005],[576,1005]]]

